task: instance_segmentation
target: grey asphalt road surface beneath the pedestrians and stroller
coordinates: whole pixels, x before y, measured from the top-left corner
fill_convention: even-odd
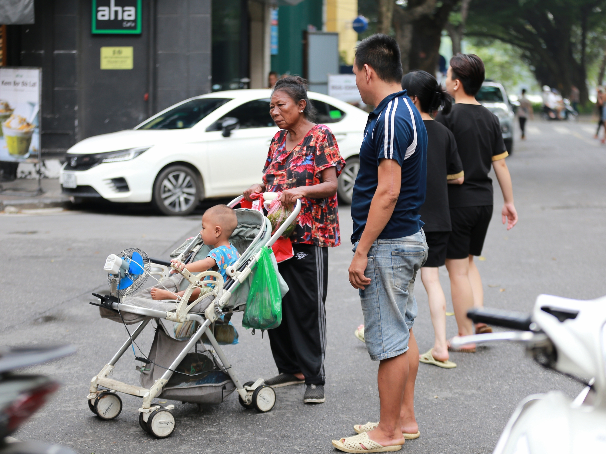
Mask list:
[[[520,222],[507,232],[500,222],[501,193],[495,191],[494,219],[478,261],[485,305],[530,311],[541,293],[589,299],[606,294],[606,147],[592,138],[593,125],[530,122],[528,139],[516,141],[507,160]],[[88,410],[90,378],[125,340],[121,324],[101,320],[88,304],[90,293],[106,288],[105,257],[139,247],[166,257],[196,232],[199,214],[187,219],[158,217],[145,208],[87,209],[48,215],[1,215],[1,345],[70,343],[72,357],[33,367],[58,378],[55,398],[13,436],[70,446],[79,453],[221,452],[330,453],[330,440],[354,435],[351,426],[376,421],[378,363],[353,336],[362,323],[357,292],[347,280],[351,246],[348,207],[340,209],[344,244],[331,249],[327,307],[327,401],[302,402],[303,386],[276,390],[271,412],[244,410],[233,393],[217,406],[198,409],[175,403],[177,427],[157,440],[138,424],[140,400],[122,395],[114,421]],[[445,269],[442,285],[449,294]],[[415,334],[421,352],[433,344],[427,295],[416,285],[419,315]],[[450,300],[450,296],[447,296]],[[448,311],[451,311],[450,302]],[[240,343],[225,348],[242,381],[269,378],[276,368],[269,342],[241,328]],[[456,334],[454,317],[448,335]],[[151,332],[144,341],[150,345]],[[573,397],[581,385],[542,370],[517,345],[495,344],[476,354],[451,354],[458,364],[445,370],[421,364],[416,382],[416,415],[421,438],[407,441],[409,453],[490,453],[516,404],[531,393],[560,389]],[[118,362],[114,378],[138,384],[132,352]]]

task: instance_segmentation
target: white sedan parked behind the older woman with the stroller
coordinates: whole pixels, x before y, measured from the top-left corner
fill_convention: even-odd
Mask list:
[[[133,130],[88,137],[67,151],[64,194],[112,202],[153,202],[167,215],[187,215],[199,200],[237,196],[261,182],[278,127],[269,114],[271,90],[196,96],[154,115]],[[333,131],[347,167],[339,197],[351,203],[367,113],[321,93],[308,93]]]

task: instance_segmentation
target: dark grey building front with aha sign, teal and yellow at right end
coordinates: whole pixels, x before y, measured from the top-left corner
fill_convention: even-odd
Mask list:
[[[42,68],[47,157],[188,97],[267,87],[271,70],[304,76],[305,31],[338,31],[347,61],[355,45],[352,0],[32,1],[33,23],[0,26],[0,65]]]

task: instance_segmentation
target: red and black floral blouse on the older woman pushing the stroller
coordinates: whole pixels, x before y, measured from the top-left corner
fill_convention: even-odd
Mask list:
[[[336,167],[337,176],[345,166],[335,136],[325,125],[316,125],[291,151],[286,150],[287,130],[278,131],[271,140],[263,168],[265,191],[278,192],[299,186],[322,183],[320,172]],[[324,199],[301,199],[293,243],[316,246],[339,246],[337,196]]]

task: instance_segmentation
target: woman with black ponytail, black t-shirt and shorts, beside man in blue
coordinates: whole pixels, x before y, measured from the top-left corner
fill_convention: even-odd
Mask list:
[[[444,113],[450,112],[450,95],[438,85],[435,77],[425,71],[406,74],[402,78],[402,88],[407,90],[427,128],[427,195],[419,214],[425,223],[423,230],[429,252],[427,262],[421,268],[421,280],[427,291],[435,343],[419,361],[450,369],[456,364],[448,361],[446,298],[440,285],[438,267],[445,263],[451,229],[447,184],[463,183],[463,165],[453,133],[430,116],[440,107]]]

